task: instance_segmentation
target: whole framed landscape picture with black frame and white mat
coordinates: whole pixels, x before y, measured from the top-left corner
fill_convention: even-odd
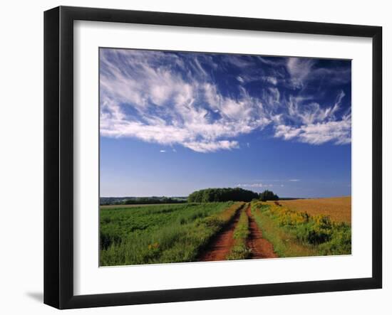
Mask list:
[[[44,302],[382,286],[378,26],[44,14]]]

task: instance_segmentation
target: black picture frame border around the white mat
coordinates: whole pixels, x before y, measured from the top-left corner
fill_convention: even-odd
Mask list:
[[[73,21],[142,23],[372,38],[372,277],[73,294]],[[44,13],[44,303],[58,309],[382,287],[382,28],[335,23],[59,6]]]

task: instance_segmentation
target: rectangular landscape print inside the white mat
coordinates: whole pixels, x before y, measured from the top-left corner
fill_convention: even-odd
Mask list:
[[[351,254],[351,60],[99,48],[99,73],[100,266]]]

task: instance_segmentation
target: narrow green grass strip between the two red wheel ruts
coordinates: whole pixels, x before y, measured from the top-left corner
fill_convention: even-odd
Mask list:
[[[228,260],[245,260],[250,255],[250,249],[247,247],[247,237],[249,236],[249,218],[246,213],[247,205],[241,209],[241,215],[237,226],[234,229],[234,245],[229,255]]]

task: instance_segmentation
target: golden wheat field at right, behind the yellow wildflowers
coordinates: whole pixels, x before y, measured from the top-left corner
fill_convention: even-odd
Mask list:
[[[279,201],[282,205],[295,211],[309,213],[309,215],[329,215],[335,222],[351,224],[351,196],[316,199],[296,199]]]

